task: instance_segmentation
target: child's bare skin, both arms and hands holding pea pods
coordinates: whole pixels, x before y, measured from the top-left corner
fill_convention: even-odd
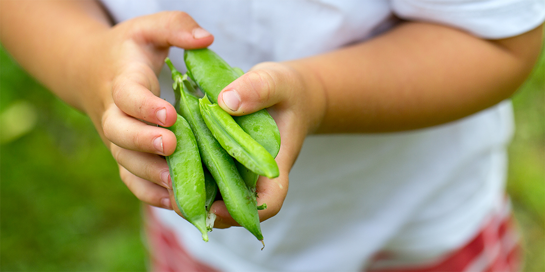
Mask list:
[[[31,75],[89,115],[132,193],[172,208],[168,168],[159,155],[174,151],[174,135],[140,120],[172,125],[174,107],[157,97],[156,78],[168,48],[206,47],[213,36],[189,15],[172,11],[111,27],[100,5],[87,1],[3,0],[0,13],[2,44]],[[232,115],[269,108],[278,124],[280,176],[257,182],[258,205],[268,205],[260,220],[280,211],[306,135],[423,128],[493,106],[529,75],[542,31],[540,26],[484,40],[438,24],[406,22],[333,52],[257,64],[229,84],[218,102]],[[237,225],[223,203],[211,209],[215,227]]]

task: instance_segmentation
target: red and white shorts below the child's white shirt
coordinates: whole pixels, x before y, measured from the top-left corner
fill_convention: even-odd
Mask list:
[[[175,232],[162,225],[150,209],[146,209],[145,228],[152,271],[219,271],[193,258]],[[384,267],[380,263],[395,256],[380,252],[366,271],[520,271],[521,253],[519,234],[510,206],[506,205],[505,211],[490,218],[462,248],[434,262]]]

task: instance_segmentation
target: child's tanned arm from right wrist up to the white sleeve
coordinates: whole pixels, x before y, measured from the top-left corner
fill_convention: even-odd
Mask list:
[[[386,132],[449,122],[510,97],[531,71],[542,30],[498,41],[405,23],[340,51],[289,63],[318,101],[317,133]],[[319,84],[318,84],[319,83]],[[312,93],[313,91],[313,93]],[[322,108],[319,108],[322,107]]]

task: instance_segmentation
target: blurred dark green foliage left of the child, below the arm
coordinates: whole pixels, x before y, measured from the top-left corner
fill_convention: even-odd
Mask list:
[[[92,122],[3,48],[0,116],[0,270],[146,270],[140,202]],[[11,133],[5,126],[28,116],[36,119],[31,129]]]

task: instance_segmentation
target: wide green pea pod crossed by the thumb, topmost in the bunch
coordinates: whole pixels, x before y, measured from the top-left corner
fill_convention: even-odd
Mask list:
[[[237,67],[231,67],[208,48],[185,50],[184,61],[189,77],[213,103],[217,103],[217,96],[223,88],[244,73]],[[266,109],[234,119],[246,133],[265,147],[273,158],[276,157],[280,150],[280,132]]]

